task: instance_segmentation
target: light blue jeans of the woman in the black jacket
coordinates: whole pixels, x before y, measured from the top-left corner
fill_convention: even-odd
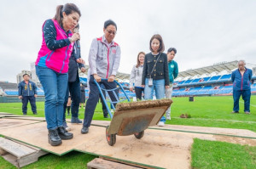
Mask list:
[[[153,93],[155,91],[156,99],[165,99],[166,86],[165,79],[153,80],[153,86],[148,87],[148,78],[145,80],[144,98],[153,99]],[[160,121],[166,122],[166,117],[163,115]]]

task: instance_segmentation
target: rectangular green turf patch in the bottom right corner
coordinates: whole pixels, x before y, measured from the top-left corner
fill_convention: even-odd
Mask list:
[[[193,168],[234,169],[256,167],[256,147],[194,139],[191,150]]]

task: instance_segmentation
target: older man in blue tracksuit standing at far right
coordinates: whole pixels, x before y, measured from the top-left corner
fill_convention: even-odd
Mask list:
[[[251,80],[253,71],[245,67],[244,60],[238,62],[238,69],[232,72],[234,108],[231,113],[239,113],[239,99],[244,100],[244,113],[250,113]]]

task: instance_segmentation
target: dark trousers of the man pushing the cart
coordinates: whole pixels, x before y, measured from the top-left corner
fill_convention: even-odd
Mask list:
[[[100,97],[100,91],[96,86],[96,83],[94,82],[94,77],[92,75],[90,76],[89,84],[90,84],[90,93],[89,93],[89,99],[86,102],[85,110],[84,110],[84,123],[83,123],[84,127],[90,127],[90,123],[94,115],[94,111],[96,109],[96,104],[98,103],[99,97]],[[100,82],[100,86],[102,84],[106,89],[113,89],[117,87],[115,82],[108,82],[107,80],[102,80]],[[112,101],[119,100],[118,90],[115,90],[115,93],[117,98],[114,96],[113,92],[108,92],[108,95]]]

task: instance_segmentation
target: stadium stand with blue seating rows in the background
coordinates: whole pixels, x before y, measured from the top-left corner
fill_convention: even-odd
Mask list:
[[[247,63],[247,65],[250,65]],[[256,65],[252,65],[252,67]],[[195,70],[187,70],[179,72],[177,81],[173,82],[173,93],[174,97],[183,96],[202,96],[202,95],[232,95],[233,87],[231,83],[231,71],[237,69],[237,61],[227,62],[218,65],[207,66]],[[216,70],[219,70],[216,74]],[[223,70],[225,73],[221,74]],[[256,70],[256,68],[255,68]],[[207,71],[207,74],[206,74]],[[211,76],[211,73],[215,72]],[[251,92],[256,93],[256,72],[253,74],[254,84],[251,86]],[[129,78],[129,75],[124,74],[125,79]],[[209,76],[205,76],[209,75]],[[182,78],[179,78],[182,76]],[[195,77],[195,78],[191,78]],[[87,84],[87,78],[79,77],[80,82]],[[122,87],[125,89],[125,93],[130,98],[135,97],[135,93],[130,92],[128,82],[120,82]],[[0,82],[0,95],[6,96],[17,96],[18,86],[16,83]],[[88,98],[88,89],[85,89],[85,97]],[[38,87],[38,96],[44,96],[44,90],[42,87]],[[120,97],[123,97],[120,95]]]

